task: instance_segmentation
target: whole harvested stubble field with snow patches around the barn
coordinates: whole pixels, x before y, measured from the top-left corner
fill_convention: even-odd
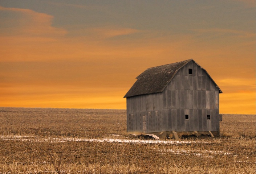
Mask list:
[[[0,173],[255,173],[255,115],[221,138],[135,140],[126,110],[0,108]]]

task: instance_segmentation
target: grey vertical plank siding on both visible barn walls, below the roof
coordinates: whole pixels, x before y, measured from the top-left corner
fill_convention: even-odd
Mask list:
[[[192,75],[188,74],[192,69]],[[127,132],[219,131],[219,90],[193,61],[183,66],[163,92],[127,100]],[[157,112],[156,112],[157,111]],[[189,115],[188,120],[185,115]],[[210,115],[210,120],[207,120]]]

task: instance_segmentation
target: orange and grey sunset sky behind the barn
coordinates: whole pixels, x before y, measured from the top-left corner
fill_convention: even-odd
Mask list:
[[[0,0],[0,107],[125,109],[149,67],[194,59],[220,113],[255,114],[255,0]]]

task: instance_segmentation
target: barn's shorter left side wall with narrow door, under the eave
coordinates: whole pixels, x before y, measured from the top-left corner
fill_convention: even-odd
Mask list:
[[[143,132],[143,116],[146,115],[146,131],[160,132],[164,120],[162,117],[163,94],[139,95],[126,98],[127,132]],[[165,118],[166,119],[166,118]]]

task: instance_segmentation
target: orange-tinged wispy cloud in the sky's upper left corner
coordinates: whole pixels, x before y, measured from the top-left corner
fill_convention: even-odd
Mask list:
[[[6,12],[10,16],[9,18],[2,18],[0,21],[0,35],[2,36],[53,37],[67,33],[62,28],[52,26],[54,17],[49,14],[38,13],[30,9],[1,6],[0,11]]]

